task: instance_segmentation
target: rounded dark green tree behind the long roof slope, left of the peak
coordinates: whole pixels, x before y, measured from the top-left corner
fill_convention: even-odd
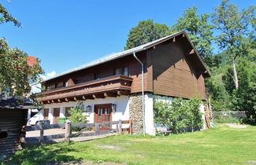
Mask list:
[[[130,30],[124,49],[141,46],[169,34],[169,27],[166,24],[154,24],[153,20],[142,20]]]

